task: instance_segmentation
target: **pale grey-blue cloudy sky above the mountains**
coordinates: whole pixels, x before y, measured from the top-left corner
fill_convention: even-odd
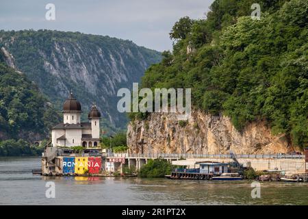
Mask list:
[[[179,18],[206,18],[214,0],[1,0],[0,29],[55,29],[132,40],[171,50],[169,32]],[[45,9],[55,5],[55,20]]]

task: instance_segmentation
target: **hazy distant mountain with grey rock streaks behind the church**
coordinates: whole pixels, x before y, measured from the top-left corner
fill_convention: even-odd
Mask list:
[[[161,53],[129,40],[79,32],[0,31],[0,47],[10,66],[21,70],[49,97],[57,110],[72,90],[86,119],[95,102],[105,129],[125,129],[127,116],[116,110],[119,88],[139,82]]]

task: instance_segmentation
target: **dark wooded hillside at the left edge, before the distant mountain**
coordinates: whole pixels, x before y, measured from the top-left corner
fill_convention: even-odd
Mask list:
[[[6,62],[0,51],[0,141],[22,138],[33,143],[47,138],[60,115],[34,83]]]

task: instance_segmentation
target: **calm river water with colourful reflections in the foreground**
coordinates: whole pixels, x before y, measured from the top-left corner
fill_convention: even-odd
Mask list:
[[[0,158],[0,205],[308,205],[308,183],[261,183],[252,198],[249,181],[33,176],[38,168],[40,157]]]

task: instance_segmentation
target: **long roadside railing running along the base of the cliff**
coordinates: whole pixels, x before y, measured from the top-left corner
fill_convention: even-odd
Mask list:
[[[185,153],[107,153],[106,157],[123,157],[123,158],[166,158],[166,159],[192,159],[192,158],[208,158],[208,159],[304,159],[305,155],[281,155],[281,154],[268,154],[268,155],[209,155],[209,154],[185,154]]]

